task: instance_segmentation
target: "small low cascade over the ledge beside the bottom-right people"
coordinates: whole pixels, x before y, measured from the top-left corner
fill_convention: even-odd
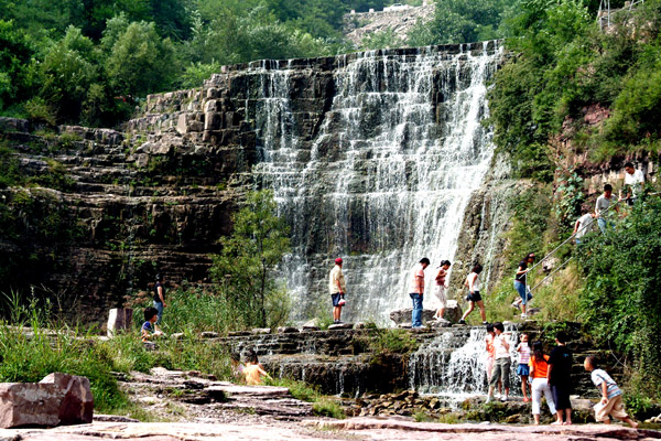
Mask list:
[[[486,372],[487,331],[485,326],[470,327],[465,334],[443,332],[429,343],[422,344],[409,362],[409,385],[422,394],[447,397],[453,401],[487,394]],[[517,373],[519,359],[516,347],[519,340],[517,327],[506,325],[510,343],[510,395],[520,394],[521,383]]]

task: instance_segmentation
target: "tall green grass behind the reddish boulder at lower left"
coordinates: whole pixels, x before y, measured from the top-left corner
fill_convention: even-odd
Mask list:
[[[90,383],[95,411],[150,420],[152,417],[120,390],[115,373],[163,366],[201,370],[218,378],[231,376],[226,348],[202,342],[197,333],[187,332],[181,340],[163,338],[156,351],[148,351],[137,326],[134,332],[104,341],[90,330],[51,321],[48,305],[34,298],[26,304],[17,292],[4,298],[9,321],[0,321],[0,381],[35,383],[54,372],[84,376]]]

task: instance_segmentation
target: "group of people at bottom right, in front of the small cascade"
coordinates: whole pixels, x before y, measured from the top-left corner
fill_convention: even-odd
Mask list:
[[[518,353],[517,375],[521,377],[521,391],[523,401],[532,400],[532,416],[534,423],[540,423],[542,395],[551,415],[555,416],[553,424],[572,423],[572,352],[567,348],[567,334],[560,331],[555,334],[556,346],[550,355],[544,354],[542,342],[534,342],[532,349],[528,344],[528,334],[521,334],[520,343],[516,348]],[[487,402],[494,399],[498,387],[501,390],[501,401],[507,401],[510,391],[510,342],[502,323],[487,324],[486,336],[486,369],[489,379]],[[595,406],[595,419],[610,423],[610,417],[625,421],[632,428],[638,427],[626,412],[622,405],[622,392],[615,380],[597,365],[594,356],[588,356],[583,363],[585,370],[590,373],[593,384],[602,396]],[[529,379],[531,379],[529,381]],[[530,398],[528,389],[530,387]]]

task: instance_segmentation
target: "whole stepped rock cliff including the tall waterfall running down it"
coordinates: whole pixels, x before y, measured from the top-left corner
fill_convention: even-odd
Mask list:
[[[76,292],[100,314],[156,271],[204,279],[242,193],[269,187],[291,225],[281,276],[294,319],[326,306],[339,255],[344,316],[387,323],[409,303],[408,271],[421,257],[433,267],[454,257],[491,159],[480,120],[500,52],[489,42],[254,62],[199,89],[150,96],[123,133],[61,127],[48,139],[12,125],[3,139],[24,170],[66,178],[56,191],[28,191],[37,212],[58,207],[66,234],[32,232],[2,248],[36,256],[39,268],[24,259],[19,279]]]

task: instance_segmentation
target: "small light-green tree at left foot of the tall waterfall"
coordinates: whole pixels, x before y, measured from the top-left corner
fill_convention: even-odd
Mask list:
[[[288,234],[273,192],[250,193],[234,216],[234,233],[213,258],[210,276],[245,326],[275,326],[289,315],[286,292],[274,276],[290,251]]]

